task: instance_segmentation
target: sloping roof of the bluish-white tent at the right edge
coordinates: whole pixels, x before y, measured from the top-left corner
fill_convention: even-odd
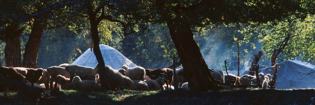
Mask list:
[[[315,65],[307,62],[297,60],[287,60],[278,63],[277,82],[281,82],[282,79],[286,78],[291,81],[301,83],[314,83],[315,75],[304,75],[302,73],[309,73],[315,69]],[[266,67],[261,69],[261,72],[266,74],[273,74],[272,67]]]

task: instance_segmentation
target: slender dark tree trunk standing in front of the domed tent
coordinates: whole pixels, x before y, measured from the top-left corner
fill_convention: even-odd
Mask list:
[[[90,1],[91,2],[91,1]],[[99,70],[98,74],[100,75],[100,84],[102,89],[110,89],[105,75],[105,62],[102,56],[102,53],[100,52],[100,46],[99,46],[99,34],[98,34],[98,24],[96,21],[96,13],[93,11],[93,7],[91,3],[88,3],[87,9],[88,9],[88,15],[90,20],[90,26],[91,26],[91,36],[93,39],[93,52],[95,54],[96,60],[99,64]]]

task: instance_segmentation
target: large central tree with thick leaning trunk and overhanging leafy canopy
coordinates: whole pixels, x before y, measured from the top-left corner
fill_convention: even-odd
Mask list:
[[[295,1],[150,1],[149,8],[157,9],[161,19],[157,23],[167,23],[171,38],[178,51],[188,87],[196,91],[215,89],[213,76],[203,60],[198,45],[193,39],[192,28],[211,24],[265,23],[283,20],[296,11],[305,18],[305,5],[311,3]],[[155,4],[155,5],[154,5]],[[305,4],[305,5],[304,5]]]

